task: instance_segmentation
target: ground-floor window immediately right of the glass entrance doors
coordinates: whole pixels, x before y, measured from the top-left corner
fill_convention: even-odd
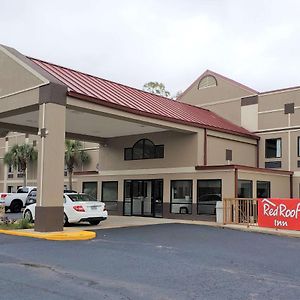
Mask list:
[[[192,180],[171,181],[171,213],[191,214],[192,213]]]

